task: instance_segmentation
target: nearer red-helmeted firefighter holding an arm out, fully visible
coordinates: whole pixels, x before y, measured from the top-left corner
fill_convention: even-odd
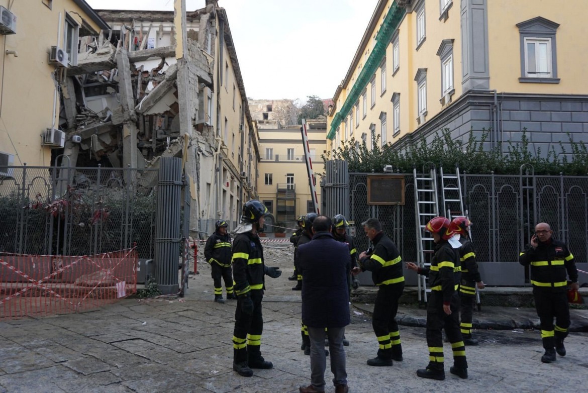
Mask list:
[[[429,275],[431,289],[427,302],[427,345],[429,365],[418,369],[416,375],[422,378],[445,379],[443,367],[443,333],[449,338],[453,351],[452,374],[467,378],[466,347],[459,328],[459,241],[452,239],[455,227],[445,217],[435,217],[427,223],[425,230],[433,235],[435,251],[429,268],[419,268],[407,262],[406,268],[422,275]],[[456,243],[455,245],[450,244]],[[456,247],[456,248],[453,248]]]

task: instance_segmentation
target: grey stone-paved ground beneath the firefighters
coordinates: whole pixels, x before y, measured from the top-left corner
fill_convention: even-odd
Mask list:
[[[252,378],[232,371],[235,301],[212,301],[208,265],[189,281],[183,299],[124,299],[75,315],[0,322],[0,393],[4,392],[298,392],[310,382],[309,357],[300,351],[300,293],[290,288],[290,248],[266,248],[266,263],[282,267],[267,278],[262,352],[274,368]],[[202,259],[201,259],[202,260]],[[416,377],[427,364],[425,330],[400,327],[404,361],[373,368],[371,321],[350,311],[346,347],[351,392],[578,392],[588,388],[588,334],[566,339],[567,356],[542,364],[538,332],[476,331],[467,347],[469,379]],[[333,392],[326,373],[327,392]]]

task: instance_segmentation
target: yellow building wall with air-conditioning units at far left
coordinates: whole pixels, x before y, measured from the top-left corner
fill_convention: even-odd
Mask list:
[[[45,142],[65,139],[61,132],[46,132],[59,129],[63,74],[56,65],[76,65],[78,38],[97,36],[108,25],[84,0],[2,0],[0,6],[0,165],[50,165],[52,148]],[[61,58],[56,49],[51,54],[52,46],[61,49]],[[46,136],[54,139],[44,141]]]

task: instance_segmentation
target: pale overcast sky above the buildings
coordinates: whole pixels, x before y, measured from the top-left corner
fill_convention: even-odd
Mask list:
[[[86,0],[95,9],[173,10],[173,0]],[[219,0],[253,99],[332,98],[377,0]],[[205,0],[186,0],[188,11]]]

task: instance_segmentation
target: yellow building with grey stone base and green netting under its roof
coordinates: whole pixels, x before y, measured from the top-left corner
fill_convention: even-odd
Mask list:
[[[328,116],[329,147],[406,149],[441,129],[486,148],[588,142],[582,0],[380,0]],[[570,149],[567,149],[570,151]]]

